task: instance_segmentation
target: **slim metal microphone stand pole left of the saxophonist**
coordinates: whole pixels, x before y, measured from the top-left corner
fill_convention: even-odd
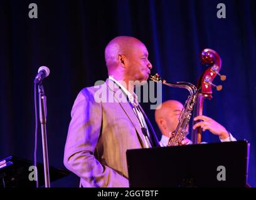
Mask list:
[[[50,187],[50,174],[49,174],[49,163],[48,163],[48,149],[47,149],[47,137],[46,137],[46,96],[43,89],[43,84],[38,84],[39,93],[39,109],[40,109],[40,123],[41,123],[41,134],[42,134],[42,146],[43,146],[43,167],[45,172],[45,187]]]

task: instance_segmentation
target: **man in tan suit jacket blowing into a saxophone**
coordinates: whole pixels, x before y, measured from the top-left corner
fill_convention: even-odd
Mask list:
[[[148,55],[139,39],[115,37],[105,47],[109,78],[78,94],[64,164],[80,177],[80,187],[129,187],[127,149],[159,146],[134,93],[134,87],[149,78]]]

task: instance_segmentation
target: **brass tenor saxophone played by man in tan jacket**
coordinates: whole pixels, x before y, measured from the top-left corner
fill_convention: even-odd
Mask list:
[[[158,74],[150,76],[150,79],[156,83],[162,83],[173,88],[187,89],[190,93],[181,111],[181,115],[179,116],[179,124],[176,130],[171,133],[171,137],[168,141],[168,146],[179,146],[181,145],[181,141],[183,141],[186,136],[186,128],[191,117],[191,112],[196,103],[196,95],[198,93],[198,89],[193,84],[187,82],[167,83],[166,80],[160,78]]]

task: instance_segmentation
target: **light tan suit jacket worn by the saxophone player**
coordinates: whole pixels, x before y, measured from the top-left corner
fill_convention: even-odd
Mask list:
[[[64,164],[80,177],[81,187],[129,187],[126,151],[146,148],[127,100],[95,102],[99,89],[107,91],[107,99],[120,94],[113,85],[107,79],[100,88],[84,88],[73,104]]]

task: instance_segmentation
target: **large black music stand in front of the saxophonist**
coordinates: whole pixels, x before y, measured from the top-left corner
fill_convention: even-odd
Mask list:
[[[249,148],[247,141],[235,141],[128,150],[129,184],[130,187],[246,187]]]

